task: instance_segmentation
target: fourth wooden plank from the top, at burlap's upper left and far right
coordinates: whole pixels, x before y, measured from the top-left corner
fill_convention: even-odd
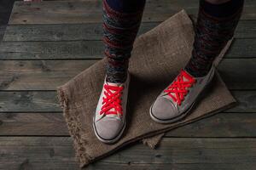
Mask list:
[[[55,90],[93,65],[87,60],[3,60],[0,90]],[[256,89],[256,59],[224,59],[218,71],[230,89]],[[247,82],[247,83],[244,83]]]

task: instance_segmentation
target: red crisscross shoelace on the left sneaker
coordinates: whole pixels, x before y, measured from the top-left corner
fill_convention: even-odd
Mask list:
[[[117,115],[118,113],[123,115],[123,109],[121,104],[121,94],[124,87],[119,86],[111,86],[108,84],[104,85],[104,94],[105,97],[103,97],[102,101],[102,111],[100,114],[106,114],[106,115]],[[112,110],[113,111],[110,111]]]

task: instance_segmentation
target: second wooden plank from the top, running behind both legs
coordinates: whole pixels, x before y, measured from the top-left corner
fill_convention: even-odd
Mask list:
[[[160,22],[143,22],[138,35],[141,35]],[[236,38],[256,37],[256,20],[241,20],[236,28]],[[10,25],[3,41],[71,41],[102,40],[102,24],[60,24],[60,25]]]

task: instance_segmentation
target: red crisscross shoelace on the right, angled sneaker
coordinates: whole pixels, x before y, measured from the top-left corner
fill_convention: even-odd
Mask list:
[[[186,79],[183,81],[183,79]],[[196,82],[186,71],[181,71],[176,80],[164,91],[168,94],[177,105],[181,105],[184,97],[189,93],[189,88]]]

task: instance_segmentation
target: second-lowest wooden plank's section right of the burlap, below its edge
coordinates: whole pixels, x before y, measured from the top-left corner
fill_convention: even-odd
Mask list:
[[[230,138],[254,137],[255,113],[218,113],[183,127],[178,127],[166,137]]]

